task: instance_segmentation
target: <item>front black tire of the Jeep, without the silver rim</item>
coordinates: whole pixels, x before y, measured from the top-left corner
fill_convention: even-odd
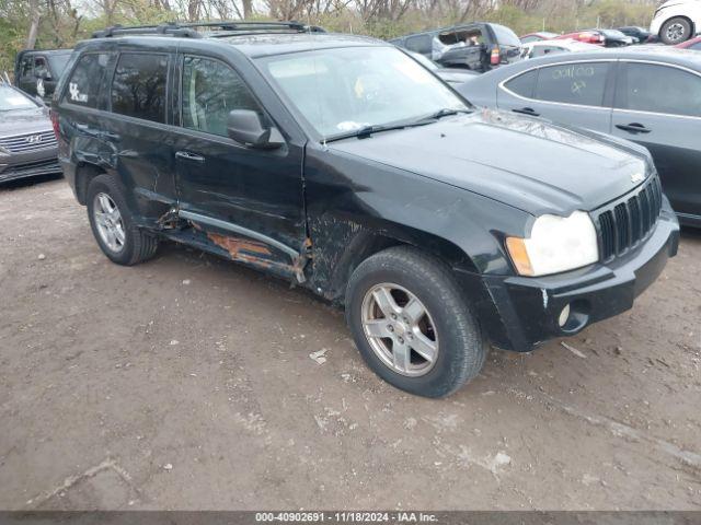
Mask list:
[[[439,348],[433,368],[425,375],[410,377],[398,373],[378,357],[365,335],[364,299],[381,283],[406,289],[430,314]],[[450,268],[409,246],[388,248],[355,269],[346,290],[346,322],[370,369],[388,383],[411,394],[447,396],[475,377],[484,365],[487,345]]]

